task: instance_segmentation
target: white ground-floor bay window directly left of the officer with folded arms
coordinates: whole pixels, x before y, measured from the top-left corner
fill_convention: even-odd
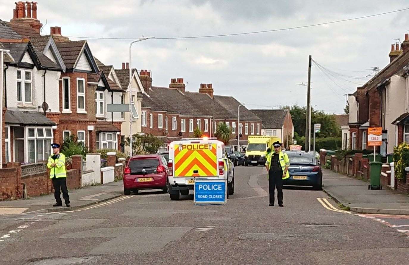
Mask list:
[[[47,160],[51,155],[52,130],[51,128],[27,128],[27,162],[37,163]]]

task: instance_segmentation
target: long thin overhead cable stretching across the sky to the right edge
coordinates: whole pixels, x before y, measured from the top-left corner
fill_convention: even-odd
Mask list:
[[[357,17],[357,18],[347,18],[347,19],[342,19],[342,20],[335,20],[335,21],[317,23],[317,24],[309,24],[309,25],[298,26],[298,27],[288,27],[288,28],[282,28],[282,29],[269,29],[269,30],[261,30],[261,31],[249,31],[249,32],[241,32],[241,33],[215,34],[215,35],[204,35],[204,36],[154,38],[153,40],[215,38],[215,37],[226,37],[226,36],[239,36],[239,35],[267,33],[267,32],[274,32],[274,31],[285,31],[285,30],[290,30],[290,29],[303,29],[303,28],[316,27],[316,26],[321,26],[321,25],[326,25],[326,24],[334,24],[334,23],[339,23],[339,22],[346,22],[346,21],[358,20],[358,19],[363,19],[363,18],[371,18],[371,17],[375,17],[375,16],[382,16],[382,15],[397,13],[397,12],[406,11],[406,10],[409,10],[409,7],[404,8],[404,9],[398,9],[398,10],[394,10],[394,11],[384,12],[384,13],[378,13],[378,14],[373,14],[373,15],[368,15],[368,16]],[[84,37],[84,36],[67,36],[67,37],[68,38],[84,38],[84,39],[103,39],[103,40],[135,40],[135,39],[139,38],[139,37],[117,38],[117,37]]]

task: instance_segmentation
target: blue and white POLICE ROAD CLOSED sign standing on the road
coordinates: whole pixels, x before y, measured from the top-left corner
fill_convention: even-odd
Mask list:
[[[226,181],[196,179],[194,194],[195,204],[225,204]]]

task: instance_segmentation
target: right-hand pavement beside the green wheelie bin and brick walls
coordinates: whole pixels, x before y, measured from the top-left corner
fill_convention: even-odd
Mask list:
[[[323,169],[323,189],[353,212],[409,214],[409,196],[389,189],[368,189],[368,182]]]

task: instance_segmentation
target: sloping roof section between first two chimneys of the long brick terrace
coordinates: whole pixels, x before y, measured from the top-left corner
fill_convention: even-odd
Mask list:
[[[169,87],[152,87],[148,91],[149,96],[158,105],[162,106],[168,113],[179,113],[181,115],[210,116],[202,110],[198,104],[184,96],[177,89]]]

